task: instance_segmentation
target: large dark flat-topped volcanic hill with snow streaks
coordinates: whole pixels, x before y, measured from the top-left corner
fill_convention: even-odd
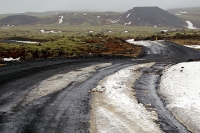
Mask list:
[[[182,28],[186,23],[159,7],[135,7],[124,13],[119,21],[124,25],[152,25]]]

